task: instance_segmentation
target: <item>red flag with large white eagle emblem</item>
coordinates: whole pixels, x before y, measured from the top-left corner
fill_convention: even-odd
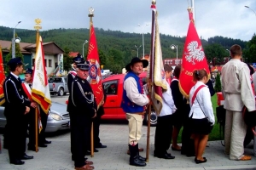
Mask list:
[[[183,63],[179,76],[179,89],[186,99],[189,99],[189,91],[195,85],[193,71],[201,69],[205,69],[207,74],[210,74],[207,57],[195,30],[193,13],[189,8],[189,30],[184,45]]]

